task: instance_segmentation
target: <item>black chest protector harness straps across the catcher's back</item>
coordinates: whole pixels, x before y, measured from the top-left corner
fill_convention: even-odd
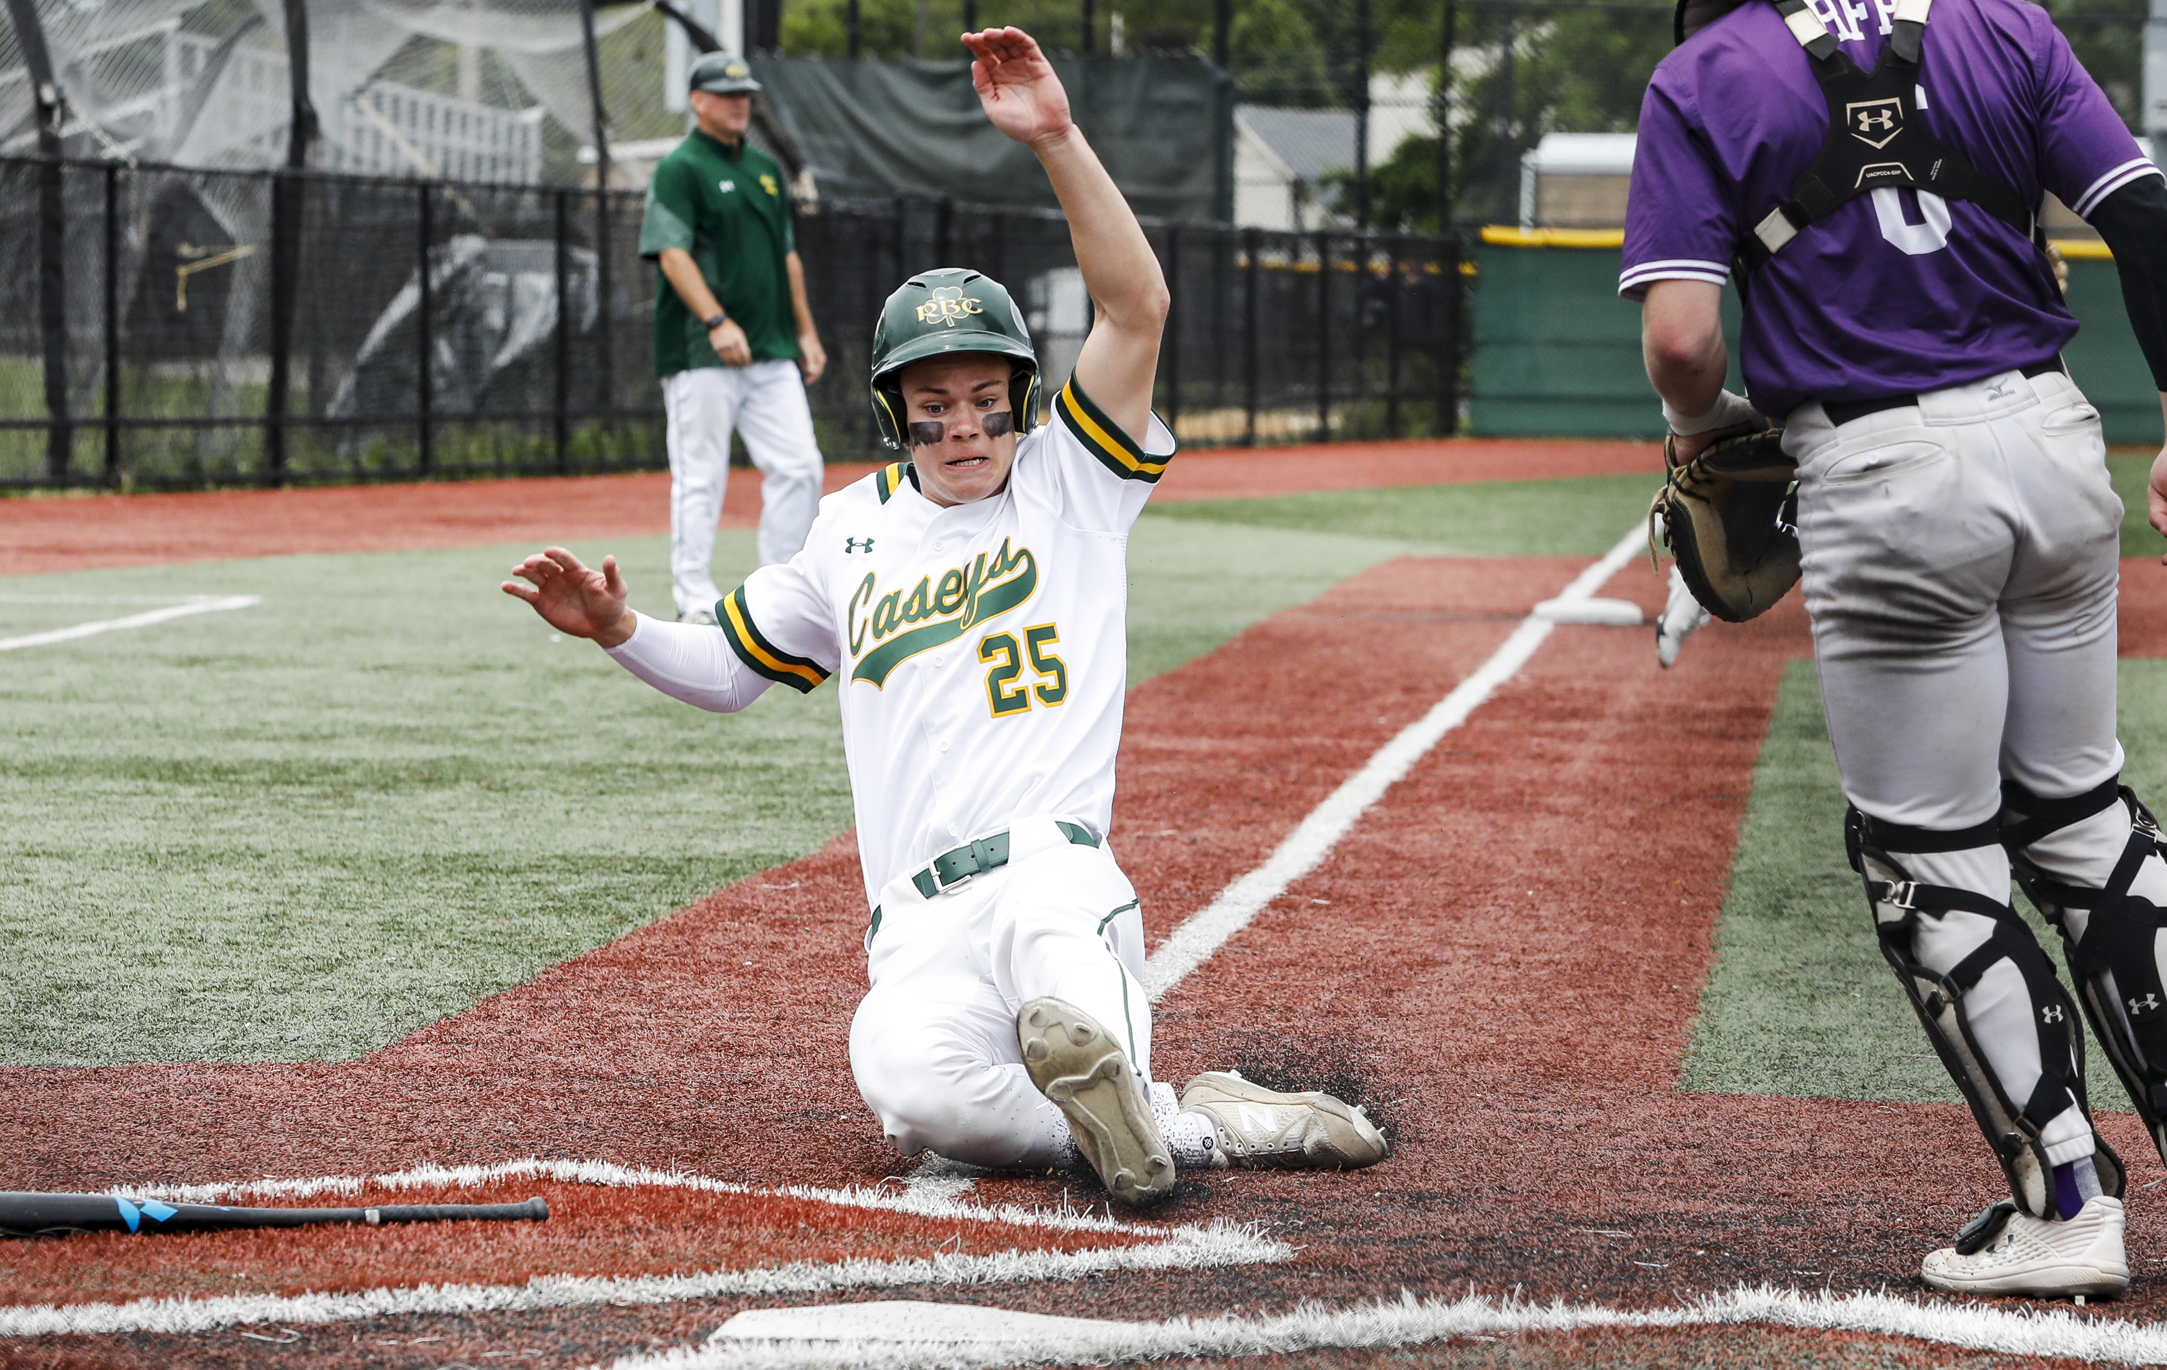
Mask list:
[[[1814,165],[1790,182],[1790,199],[1738,241],[1740,275],[1781,251],[1799,230],[1883,186],[1970,199],[2013,232],[2037,241],[2037,223],[2024,197],[1926,132],[1918,115],[1918,67],[1931,4],[1933,0],[1898,0],[1881,59],[1872,72],[1861,72],[1805,0],[1775,0],[1783,24],[1814,61],[1820,93],[1829,100],[1829,137]]]

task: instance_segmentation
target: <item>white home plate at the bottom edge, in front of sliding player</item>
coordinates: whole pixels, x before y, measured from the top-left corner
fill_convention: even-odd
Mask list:
[[[1003,1350],[1077,1344],[1105,1333],[1142,1331],[1140,1322],[1016,1314],[975,1303],[826,1303],[813,1307],[745,1309],[715,1329],[709,1346],[726,1342],[847,1342],[858,1355],[891,1348]]]

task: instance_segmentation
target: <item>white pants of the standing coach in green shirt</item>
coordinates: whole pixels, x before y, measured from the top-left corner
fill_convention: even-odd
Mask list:
[[[670,592],[678,613],[715,609],[715,525],[730,483],[730,434],[761,481],[761,566],[789,561],[819,514],[821,457],[797,362],[696,366],[663,377],[670,444]]]

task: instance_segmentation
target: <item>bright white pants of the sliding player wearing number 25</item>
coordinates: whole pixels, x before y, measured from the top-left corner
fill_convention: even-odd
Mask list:
[[[849,1023],[849,1069],[904,1155],[995,1168],[1073,1160],[1068,1121],[1016,1045],[1029,999],[1075,1004],[1151,1075],[1144,919],[1114,856],[1051,817],[1010,830],[1008,865],[927,900],[899,876],[867,939],[871,993]]]

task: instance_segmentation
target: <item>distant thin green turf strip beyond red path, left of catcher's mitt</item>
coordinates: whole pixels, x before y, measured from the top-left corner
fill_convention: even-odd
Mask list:
[[[1647,520],[1658,475],[1328,490],[1164,505],[1155,518],[1385,538],[1428,557],[1599,557]]]

